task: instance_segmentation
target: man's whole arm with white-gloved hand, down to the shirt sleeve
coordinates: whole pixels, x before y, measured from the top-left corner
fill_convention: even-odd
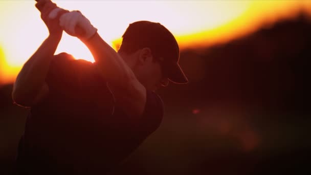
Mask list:
[[[121,56],[97,33],[97,29],[79,11],[72,11],[60,17],[63,30],[78,37],[91,51],[102,77],[113,91],[117,104],[129,116],[143,114],[146,103],[146,89]],[[84,30],[78,34],[77,29]]]

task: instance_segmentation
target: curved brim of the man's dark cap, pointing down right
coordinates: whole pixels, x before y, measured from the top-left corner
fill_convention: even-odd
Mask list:
[[[170,65],[168,79],[173,83],[188,83],[188,78],[178,63],[173,63]]]

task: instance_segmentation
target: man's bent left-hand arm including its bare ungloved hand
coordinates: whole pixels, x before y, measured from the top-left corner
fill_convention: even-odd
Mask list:
[[[14,82],[12,98],[19,105],[31,106],[39,101],[49,92],[45,82],[50,62],[56,51],[62,36],[62,29],[59,27],[59,16],[65,12],[57,9],[55,4],[39,1],[36,4],[41,12],[41,18],[49,29],[48,38],[42,43],[37,51],[24,64]],[[53,12],[54,11],[54,12]],[[50,13],[54,16],[51,17]]]

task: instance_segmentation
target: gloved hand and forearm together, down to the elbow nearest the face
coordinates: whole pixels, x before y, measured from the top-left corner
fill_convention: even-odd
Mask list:
[[[120,55],[99,36],[97,29],[81,12],[71,11],[63,14],[59,18],[59,25],[66,33],[84,42],[91,51],[101,75],[109,84],[122,88],[135,78]]]

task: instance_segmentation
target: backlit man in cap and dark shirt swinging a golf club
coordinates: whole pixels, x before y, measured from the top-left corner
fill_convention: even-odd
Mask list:
[[[154,93],[169,81],[188,82],[179,46],[161,24],[137,21],[115,52],[79,11],[49,1],[36,7],[49,36],[24,64],[13,100],[31,107],[20,140],[21,174],[103,174],[118,165],[154,130],[163,103]],[[62,31],[78,37],[95,62],[54,55]]]

